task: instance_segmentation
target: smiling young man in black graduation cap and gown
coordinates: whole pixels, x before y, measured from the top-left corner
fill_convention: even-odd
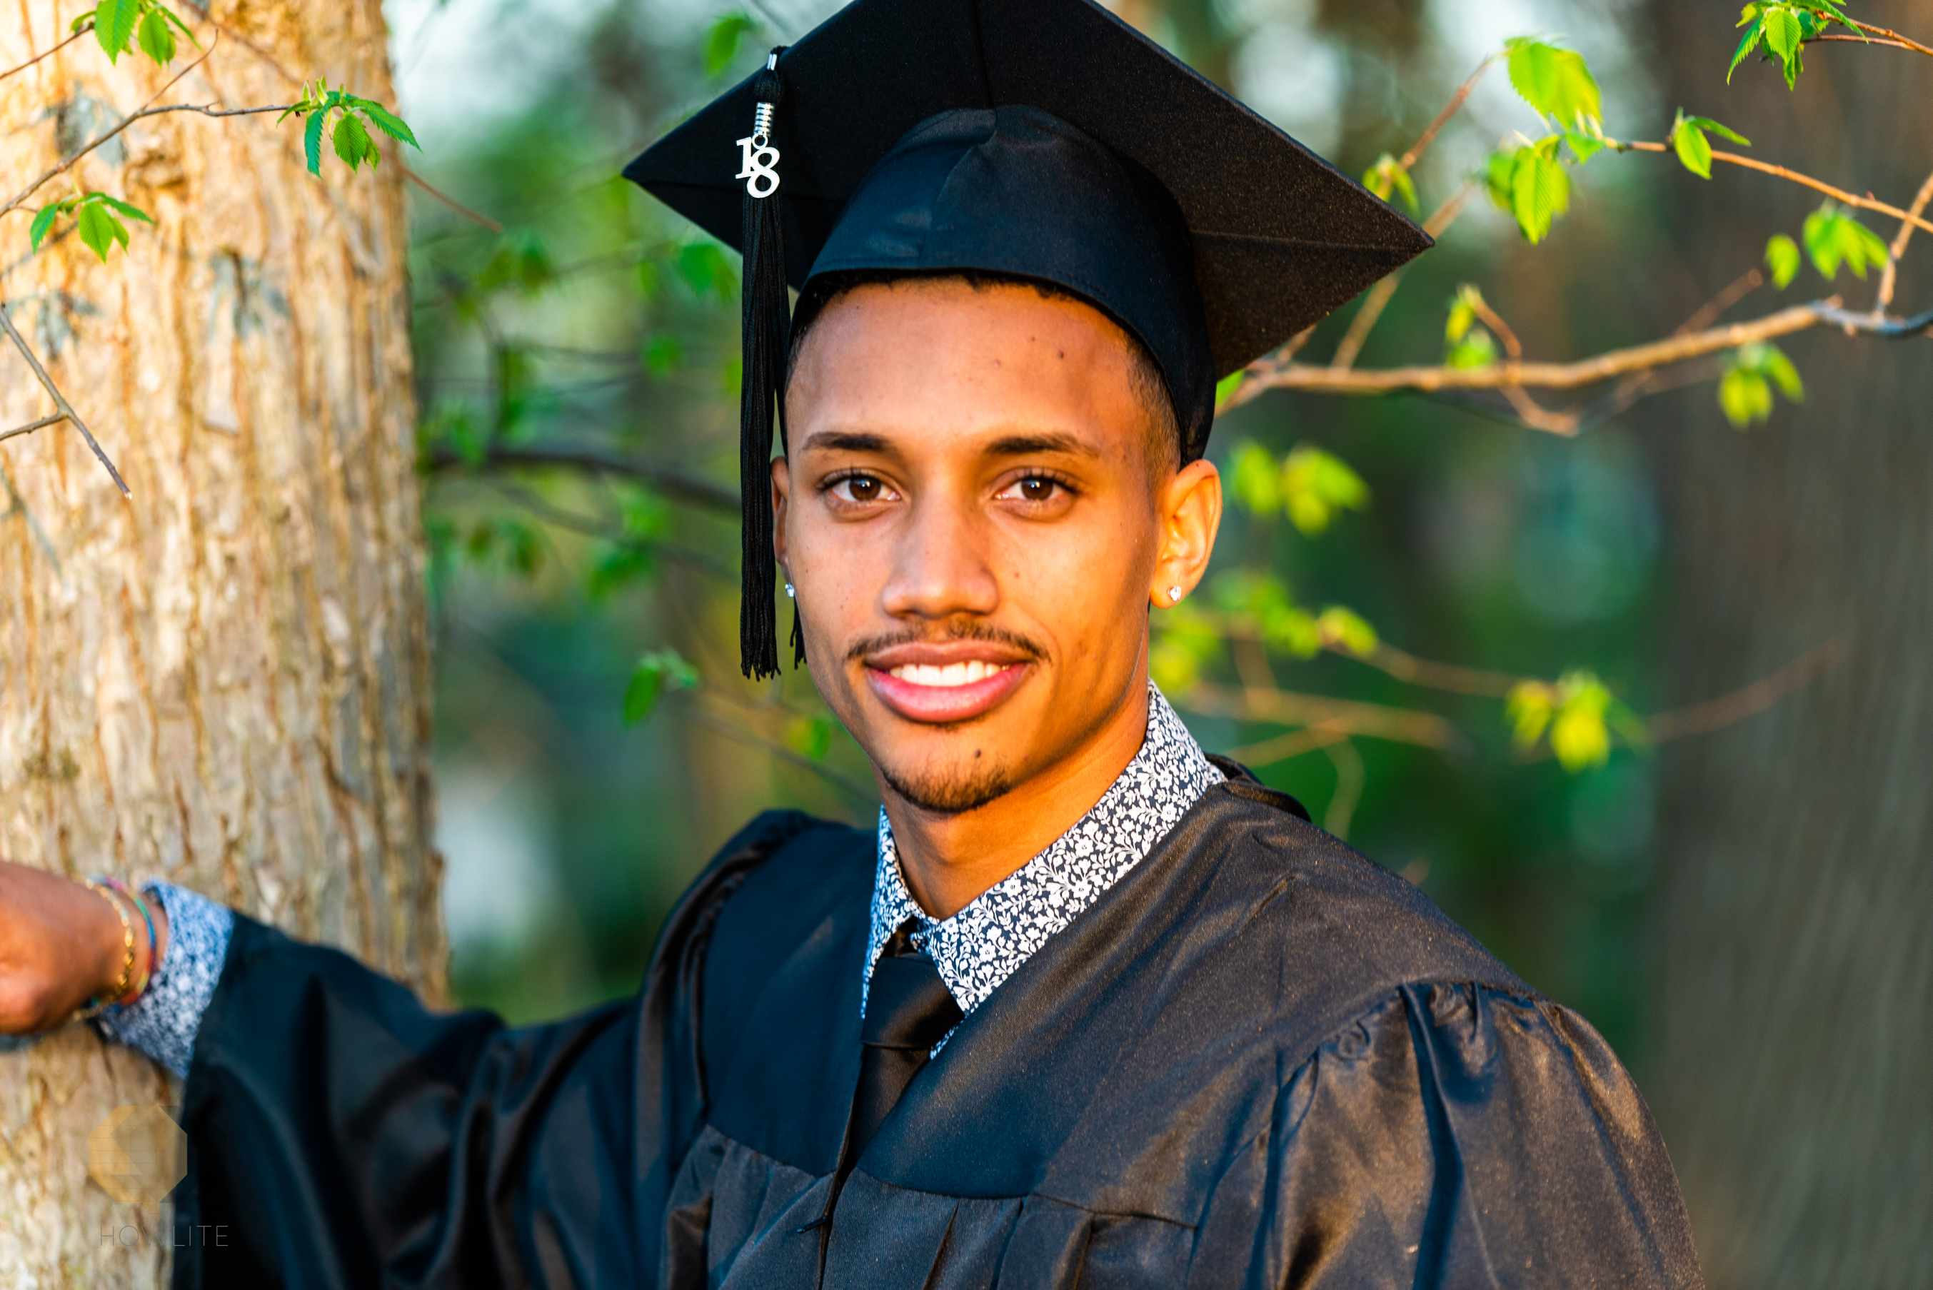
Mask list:
[[[1148,682],[1216,377],[1427,238],[1086,0],[860,0],[626,174],[746,251],[746,670],[779,566],[878,827],[756,817],[522,1029],[149,884],[176,1284],[1701,1284],[1602,1039]],[[60,886],[14,1027],[126,987]]]

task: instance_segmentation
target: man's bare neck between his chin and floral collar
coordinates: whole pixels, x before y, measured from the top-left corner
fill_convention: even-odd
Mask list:
[[[1086,815],[1140,751],[1146,732],[1142,678],[1073,755],[972,811],[926,811],[881,782],[907,890],[932,917],[953,917]]]

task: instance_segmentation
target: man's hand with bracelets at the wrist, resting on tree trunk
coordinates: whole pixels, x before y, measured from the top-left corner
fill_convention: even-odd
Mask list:
[[[124,902],[126,904],[126,902]],[[151,900],[157,948],[166,913]],[[133,925],[135,979],[149,968],[147,925]],[[0,1035],[58,1025],[114,989],[126,964],[122,925],[99,892],[54,873],[0,859]]]

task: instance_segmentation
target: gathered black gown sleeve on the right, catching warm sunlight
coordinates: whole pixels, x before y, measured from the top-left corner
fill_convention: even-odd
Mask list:
[[[1575,1012],[1405,985],[1274,1110],[1264,1286],[1697,1286],[1651,1112]]]

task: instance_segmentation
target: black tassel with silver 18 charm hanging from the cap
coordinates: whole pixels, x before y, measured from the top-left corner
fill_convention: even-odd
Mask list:
[[[773,606],[777,562],[771,554],[771,427],[779,384],[785,380],[785,348],[791,309],[785,295],[785,234],[779,210],[779,151],[773,122],[781,108],[779,54],[771,50],[754,81],[758,116],[752,133],[738,141],[744,193],[742,340],[744,384],[738,394],[738,500],[744,521],[744,574],[738,603],[738,668],[752,680],[779,674],[779,626]],[[793,622],[798,645],[796,616]]]

